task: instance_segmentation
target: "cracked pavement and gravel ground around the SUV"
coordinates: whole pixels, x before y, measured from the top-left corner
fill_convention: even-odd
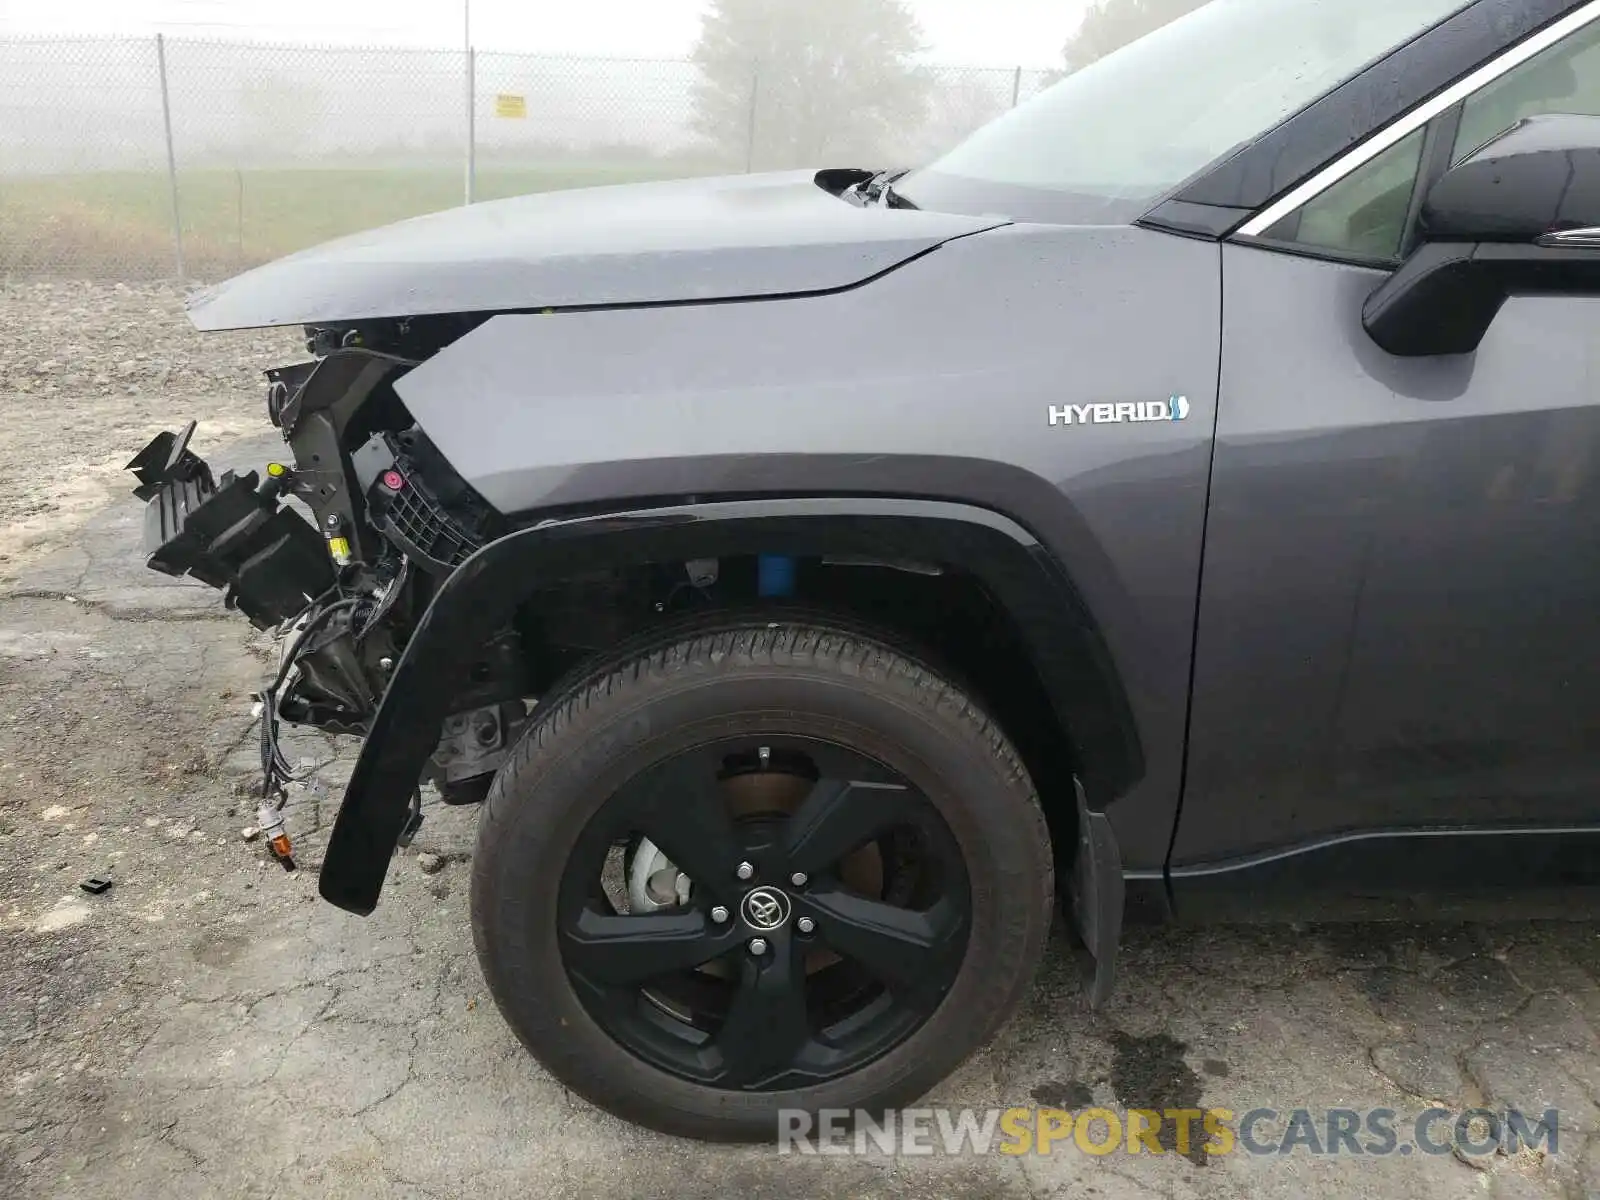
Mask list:
[[[0,1195],[1600,1195],[1600,931],[1579,923],[1134,930],[1102,1014],[1056,942],[1019,1018],[928,1101],[1402,1123],[1434,1102],[1557,1106],[1555,1154],[797,1158],[595,1112],[485,995],[470,810],[429,806],[365,920],[315,896],[354,747],[290,741],[312,773],[291,798],[299,874],[243,837],[267,646],[214,592],[141,566],[138,504],[101,504],[184,413],[216,466],[259,464],[275,437],[256,374],[291,339],[213,341],[206,365],[166,291],[0,302]],[[128,362],[133,395],[112,382]],[[90,875],[112,888],[83,893]]]

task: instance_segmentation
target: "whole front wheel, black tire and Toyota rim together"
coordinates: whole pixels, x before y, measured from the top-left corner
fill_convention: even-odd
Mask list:
[[[778,1136],[909,1104],[1016,1010],[1050,842],[1016,750],[870,638],[749,622],[541,706],[472,874],[501,1013],[651,1128]]]

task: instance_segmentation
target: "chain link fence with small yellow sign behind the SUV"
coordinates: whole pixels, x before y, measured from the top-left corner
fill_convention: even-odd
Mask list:
[[[467,200],[909,165],[1050,80],[923,66],[874,123],[758,64],[0,38],[0,277],[211,280]]]

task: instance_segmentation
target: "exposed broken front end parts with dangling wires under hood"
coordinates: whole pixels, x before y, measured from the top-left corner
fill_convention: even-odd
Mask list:
[[[422,326],[422,328],[416,328]],[[267,416],[290,448],[264,475],[222,472],[190,448],[194,422],[128,464],[147,501],[152,570],[192,576],[230,610],[278,630],[282,659],[259,694],[261,829],[285,867],[280,722],[365,734],[395,661],[448,574],[502,533],[502,518],[432,446],[394,382],[459,333],[424,322],[312,328],[310,362],[267,371]],[[422,779],[446,803],[486,792],[526,720],[515,629],[486,640]],[[408,843],[421,824],[413,794]]]

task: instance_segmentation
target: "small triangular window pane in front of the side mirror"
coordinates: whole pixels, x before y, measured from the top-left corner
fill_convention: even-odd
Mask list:
[[[1285,216],[1264,237],[1363,259],[1397,258],[1422,162],[1422,133],[1406,134]]]

